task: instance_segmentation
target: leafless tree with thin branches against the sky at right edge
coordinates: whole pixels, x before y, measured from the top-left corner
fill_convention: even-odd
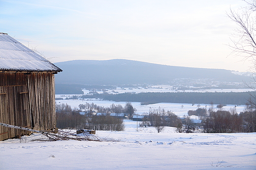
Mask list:
[[[240,8],[237,12],[230,9],[230,13],[228,17],[238,25],[236,29],[236,33],[234,35],[233,44],[229,47],[233,49],[233,52],[236,55],[242,56],[243,60],[249,60],[252,64],[250,69],[251,73],[253,73],[253,81],[256,82],[256,0],[244,0],[247,4],[246,7]],[[251,97],[248,99],[249,105],[251,108],[255,110],[256,108],[256,89],[252,85],[247,83],[248,87],[254,90],[254,93],[250,93]],[[251,115],[251,121],[247,121],[252,127],[250,131],[256,131],[254,118],[256,117],[255,111],[250,111],[244,113],[244,117],[247,118],[246,115]]]

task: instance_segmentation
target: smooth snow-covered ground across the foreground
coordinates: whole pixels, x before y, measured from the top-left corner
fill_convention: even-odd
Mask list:
[[[40,141],[35,134],[0,142],[0,170],[255,170],[256,133],[176,133],[166,127],[96,131],[120,142]]]

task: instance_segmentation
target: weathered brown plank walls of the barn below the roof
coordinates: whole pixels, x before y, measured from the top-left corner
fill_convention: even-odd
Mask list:
[[[55,127],[52,73],[0,73],[0,122],[47,130]],[[0,140],[29,134],[0,126]]]

